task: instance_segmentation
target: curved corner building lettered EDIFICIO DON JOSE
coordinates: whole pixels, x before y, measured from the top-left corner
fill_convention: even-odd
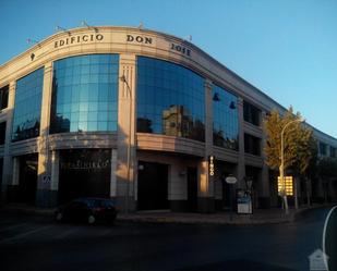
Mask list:
[[[0,66],[2,197],[104,196],[130,210],[213,211],[226,176],[277,205],[262,120],[285,108],[186,40],[131,27],[58,33]],[[337,139],[314,130],[322,156]],[[208,158],[215,157],[215,174]]]

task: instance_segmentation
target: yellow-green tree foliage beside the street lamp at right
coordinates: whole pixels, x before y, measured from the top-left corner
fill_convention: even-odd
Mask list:
[[[265,162],[272,169],[278,169],[281,163],[281,132],[290,122],[300,119],[293,115],[290,108],[284,116],[274,110],[264,120],[266,145],[264,148]],[[284,165],[285,170],[296,165],[300,173],[306,171],[314,155],[315,140],[312,130],[300,122],[292,122],[284,131]]]

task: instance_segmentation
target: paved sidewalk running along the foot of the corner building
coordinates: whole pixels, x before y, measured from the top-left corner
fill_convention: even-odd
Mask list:
[[[118,221],[121,222],[145,222],[145,223],[180,223],[180,224],[232,224],[232,225],[250,225],[250,224],[276,224],[289,223],[296,218],[310,209],[324,208],[325,205],[314,205],[311,207],[301,207],[298,210],[290,209],[289,214],[280,208],[256,209],[253,214],[230,215],[230,212],[216,213],[192,213],[192,212],[171,212],[171,211],[140,211],[135,213],[118,214]],[[32,206],[9,204],[0,207],[0,211],[16,214],[37,214],[52,218],[55,209],[37,208]]]

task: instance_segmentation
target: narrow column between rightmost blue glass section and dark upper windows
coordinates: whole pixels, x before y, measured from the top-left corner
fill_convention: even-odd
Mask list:
[[[244,164],[244,120],[243,120],[243,99],[238,98],[238,116],[239,116],[239,161],[237,168],[238,188],[244,188],[245,164]]]

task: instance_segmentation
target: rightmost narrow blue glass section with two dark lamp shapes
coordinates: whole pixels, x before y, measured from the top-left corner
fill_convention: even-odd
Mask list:
[[[213,87],[213,144],[239,149],[238,97],[221,87]]]

